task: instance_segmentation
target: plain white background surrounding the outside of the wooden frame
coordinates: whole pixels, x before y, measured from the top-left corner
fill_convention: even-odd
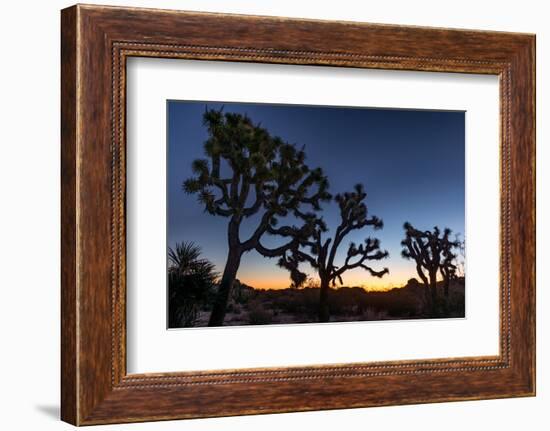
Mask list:
[[[298,0],[104,3],[537,33],[538,396],[536,398],[249,416],[97,429],[446,431],[548,429],[550,415],[549,13],[542,1],[312,2]],[[64,1],[6,2],[0,25],[0,426],[70,429],[59,409],[59,9]]]

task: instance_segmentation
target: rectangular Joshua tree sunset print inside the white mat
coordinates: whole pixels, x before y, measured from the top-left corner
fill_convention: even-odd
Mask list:
[[[168,328],[465,317],[465,113],[167,102]]]

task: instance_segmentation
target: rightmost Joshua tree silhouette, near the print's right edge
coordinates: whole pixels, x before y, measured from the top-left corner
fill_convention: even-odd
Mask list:
[[[453,249],[458,247],[456,241],[449,240],[451,229],[445,228],[443,233],[437,226],[433,231],[420,231],[409,222],[403,225],[405,239],[401,241],[401,255],[405,259],[414,259],[416,272],[426,286],[426,300],[431,314],[437,315],[437,272],[441,273],[445,296],[449,296],[449,284],[456,276],[456,265],[453,263],[456,255]]]

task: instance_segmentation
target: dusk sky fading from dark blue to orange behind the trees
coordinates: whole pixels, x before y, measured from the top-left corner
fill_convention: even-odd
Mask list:
[[[207,132],[202,114],[206,105],[214,109],[222,106],[168,102],[168,245],[194,241],[221,272],[227,255],[227,219],[205,213],[196,196],[186,195],[181,188],[192,176],[191,162],[205,157]],[[464,234],[464,112],[243,103],[223,106],[225,112],[248,114],[273,135],[299,147],[305,145],[308,165],[323,168],[332,194],[364,184],[369,213],[383,219],[384,229],[354,232],[341,247],[341,256],[349,241],[378,237],[390,257],[373,266],[387,266],[390,274],[378,280],[357,269],[345,274],[346,285],[389,287],[415,275],[412,262],[401,257],[405,221],[420,229],[439,225]],[[323,209],[333,231],[339,222],[336,204],[325,204]],[[254,221],[249,221],[244,233],[254,228]],[[266,244],[275,245],[276,240],[270,241]],[[275,259],[256,252],[244,256],[237,276],[256,287],[289,284],[288,273],[276,266]]]

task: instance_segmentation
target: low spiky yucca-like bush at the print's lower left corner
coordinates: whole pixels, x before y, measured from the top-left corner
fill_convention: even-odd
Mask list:
[[[192,242],[168,249],[168,326],[194,326],[202,306],[213,294],[218,274],[214,264],[201,259]]]

